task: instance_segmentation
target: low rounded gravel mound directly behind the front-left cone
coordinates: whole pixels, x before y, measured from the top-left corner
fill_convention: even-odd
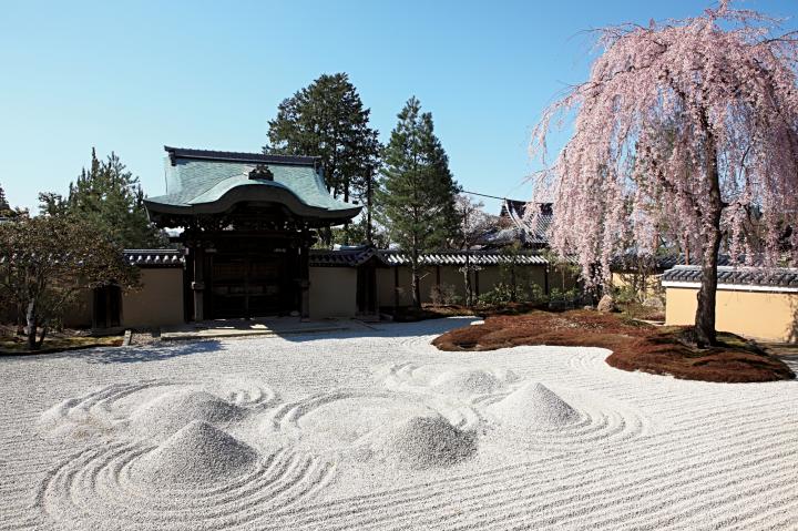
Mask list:
[[[244,417],[246,410],[206,391],[178,389],[165,392],[136,409],[131,425],[141,435],[163,439],[193,420],[229,422]]]

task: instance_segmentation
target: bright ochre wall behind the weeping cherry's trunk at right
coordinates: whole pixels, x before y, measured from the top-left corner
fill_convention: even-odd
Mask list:
[[[668,287],[665,324],[692,325],[697,288]],[[798,294],[718,289],[715,327],[769,341],[798,340]]]

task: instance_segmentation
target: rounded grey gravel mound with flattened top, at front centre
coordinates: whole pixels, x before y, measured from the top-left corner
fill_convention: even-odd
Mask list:
[[[376,430],[368,439],[378,460],[413,470],[457,464],[477,452],[475,435],[441,416],[409,417]]]

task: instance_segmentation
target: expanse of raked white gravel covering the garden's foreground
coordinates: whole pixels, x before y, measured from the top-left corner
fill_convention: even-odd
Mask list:
[[[0,359],[0,529],[798,529],[798,382],[468,319]]]

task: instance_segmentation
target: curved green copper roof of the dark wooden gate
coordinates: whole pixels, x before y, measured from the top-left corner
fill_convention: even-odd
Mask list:
[[[145,200],[151,214],[216,214],[244,201],[285,205],[300,217],[347,221],[360,207],[329,195],[318,159],[165,147],[166,194]],[[250,178],[256,167],[273,177]]]

